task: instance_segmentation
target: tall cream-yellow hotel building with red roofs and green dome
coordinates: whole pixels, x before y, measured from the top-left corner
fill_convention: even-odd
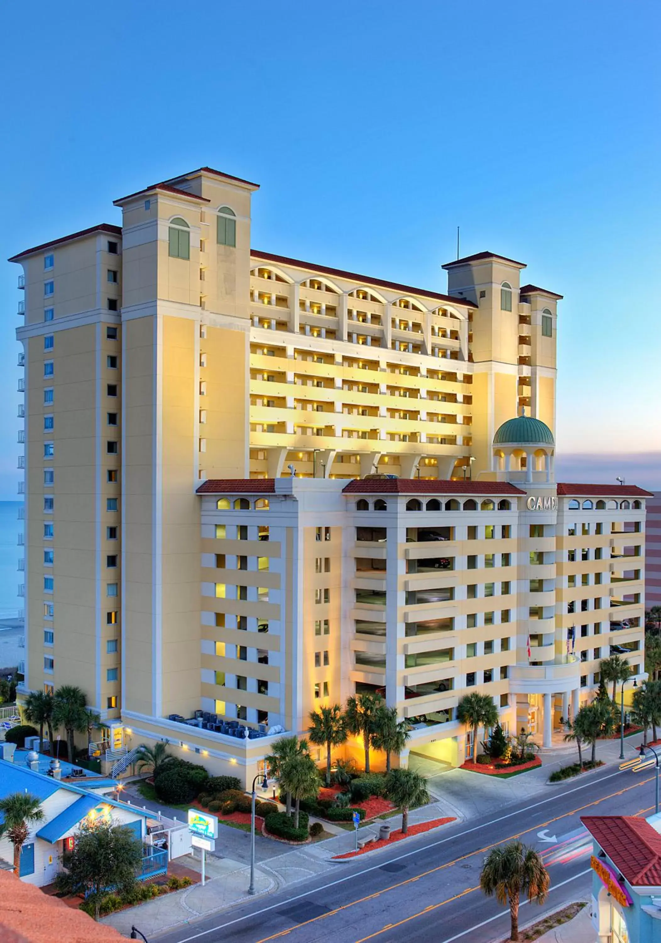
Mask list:
[[[554,481],[561,296],[487,252],[447,294],[258,252],[256,190],[202,168],[11,259],[25,691],[246,779],[361,690],[416,754],[461,762],[472,689],[549,742],[611,645],[643,670],[647,492]]]

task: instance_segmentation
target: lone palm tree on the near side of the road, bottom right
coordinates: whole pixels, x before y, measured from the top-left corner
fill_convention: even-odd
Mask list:
[[[551,878],[541,856],[529,845],[513,841],[489,852],[480,873],[480,887],[487,897],[506,906],[509,903],[511,940],[519,939],[519,902],[521,891],[533,901],[543,903],[549,894]]]

